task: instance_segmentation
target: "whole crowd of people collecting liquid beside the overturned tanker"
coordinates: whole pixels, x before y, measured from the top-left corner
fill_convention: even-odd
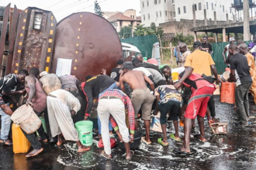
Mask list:
[[[251,53],[255,52],[254,49],[254,46],[251,47]],[[36,115],[45,117],[48,132],[44,132],[42,125],[37,130],[40,138],[22,131],[33,147],[26,157],[40,154],[43,151],[40,141],[47,143],[54,141],[54,138],[57,138],[57,145],[62,145],[65,140],[75,141],[78,152],[89,151],[90,147],[85,147],[79,141],[74,123],[90,120],[96,101],[97,132],[103,141],[104,151],[101,155],[105,158],[112,158],[109,138],[113,137],[113,133],[124,143],[126,159],[132,158],[134,152],[130,150],[130,143],[138,130],[139,118],[144,121],[146,131],[141,141],[150,145],[150,120],[152,114],[157,115],[158,112],[161,115],[163,138],[158,138],[157,142],[163,146],[169,145],[167,120],[171,120],[175,128],[175,133],[170,134],[169,138],[181,141],[178,121],[182,121],[184,145],[175,151],[190,154],[190,134],[195,131],[195,118],[200,129],[195,138],[200,141],[207,141],[204,118],[207,117],[209,124],[220,121],[216,118],[213,100],[215,84],[219,84],[220,79],[212,53],[213,48],[204,37],[203,42],[194,42],[192,52],[184,42],[178,42],[175,48],[176,69],[170,66],[160,69],[138,54],[128,57],[125,62],[119,59],[110,76],[102,69],[97,76],[86,76],[85,82],[71,75],[58,77],[54,73],[40,73],[37,68],[30,69],[29,73],[20,70],[9,74],[0,80],[0,142],[12,145],[9,139],[10,116],[13,110],[27,104],[33,107]],[[230,67],[229,81],[237,83],[235,100],[241,127],[248,126],[250,118],[249,91],[256,103],[256,66],[251,53],[244,42],[235,43],[234,38],[230,38],[230,44],[223,51],[224,62]]]

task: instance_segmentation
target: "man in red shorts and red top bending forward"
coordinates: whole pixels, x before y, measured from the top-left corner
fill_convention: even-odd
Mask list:
[[[206,141],[204,131],[204,117],[206,116],[209,98],[213,96],[213,92],[216,90],[214,84],[209,83],[206,80],[199,80],[202,79],[202,76],[200,76],[198,73],[192,73],[193,70],[194,69],[192,67],[187,68],[184,73],[179,75],[179,82],[175,83],[175,88],[177,89],[182,87],[183,84],[185,87],[190,87],[192,90],[192,95],[184,115],[184,145],[182,148],[176,150],[185,154],[190,153],[190,134],[192,130],[192,120],[194,120],[195,117],[197,117],[199,121],[200,128],[200,134],[196,136],[196,138],[199,138],[201,141]],[[212,120],[209,119],[208,121],[210,122]]]

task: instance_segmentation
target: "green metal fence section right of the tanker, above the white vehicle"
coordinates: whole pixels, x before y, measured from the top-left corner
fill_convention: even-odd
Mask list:
[[[149,35],[149,36],[134,36],[128,39],[120,39],[121,42],[126,42],[132,44],[133,46],[137,46],[140,49],[140,52],[143,56],[147,56],[147,58],[151,58],[152,49],[155,42],[158,42],[157,36]]]

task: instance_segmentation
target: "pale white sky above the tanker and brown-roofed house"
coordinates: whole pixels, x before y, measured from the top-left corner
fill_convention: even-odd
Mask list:
[[[17,6],[19,9],[37,7],[54,12],[57,21],[75,12],[94,12],[95,0],[1,0],[0,6]],[[135,9],[140,15],[140,0],[98,0],[102,12],[124,12]]]

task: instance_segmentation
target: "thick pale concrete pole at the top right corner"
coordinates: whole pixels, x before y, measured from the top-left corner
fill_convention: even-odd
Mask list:
[[[249,15],[249,2],[248,0],[244,0],[243,5],[244,11],[244,41],[250,40],[250,15]]]

